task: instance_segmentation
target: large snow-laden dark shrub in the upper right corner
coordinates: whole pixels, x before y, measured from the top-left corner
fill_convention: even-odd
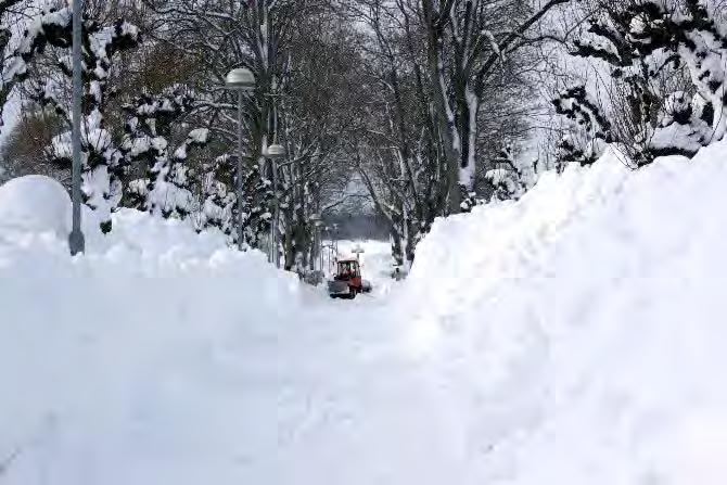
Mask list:
[[[704,4],[609,3],[586,31],[572,54],[610,65],[612,135],[637,166],[660,155],[693,156],[723,138],[727,37]]]

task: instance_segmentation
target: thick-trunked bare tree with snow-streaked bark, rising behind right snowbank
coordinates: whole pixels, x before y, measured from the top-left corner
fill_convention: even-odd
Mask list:
[[[477,117],[499,64],[543,36],[528,31],[570,0],[421,0],[428,71],[448,162],[449,210],[471,206]]]

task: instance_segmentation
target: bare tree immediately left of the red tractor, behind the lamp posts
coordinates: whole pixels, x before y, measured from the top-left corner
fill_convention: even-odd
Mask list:
[[[286,269],[313,269],[320,221],[348,194],[350,165],[342,156],[360,103],[358,36],[332,11],[301,18],[277,104],[280,228]]]

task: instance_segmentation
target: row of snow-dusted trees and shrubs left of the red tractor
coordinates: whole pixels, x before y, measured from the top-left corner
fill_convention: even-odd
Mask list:
[[[1,101],[18,100],[22,117],[5,165],[67,181],[69,8],[7,3]],[[27,28],[13,35],[18,21]],[[336,135],[355,115],[347,103],[357,53],[348,36],[330,5],[314,1],[87,2],[82,191],[101,229],[112,230],[111,213],[128,206],[188,218],[200,230],[215,226],[234,240],[242,216],[245,242],[257,247],[267,243],[275,201],[285,267],[309,265],[321,215],[348,199],[345,164],[336,163]],[[256,79],[242,127],[222,89],[241,66]],[[238,202],[240,133],[245,195]],[[271,143],[289,154],[275,174],[263,156]]]

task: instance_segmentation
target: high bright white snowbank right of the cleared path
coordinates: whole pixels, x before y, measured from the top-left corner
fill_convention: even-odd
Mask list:
[[[726,186],[725,143],[638,173],[609,154],[435,224],[409,343],[481,483],[725,483]]]

